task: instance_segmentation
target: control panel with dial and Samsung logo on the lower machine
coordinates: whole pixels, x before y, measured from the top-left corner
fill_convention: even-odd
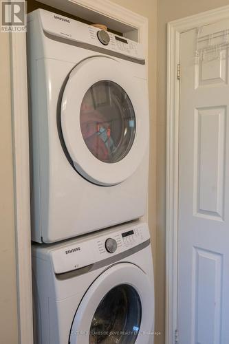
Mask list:
[[[50,247],[54,272],[61,274],[98,263],[112,255],[131,250],[149,240],[147,224],[124,225],[103,230],[101,233],[78,238],[71,244],[59,244]]]

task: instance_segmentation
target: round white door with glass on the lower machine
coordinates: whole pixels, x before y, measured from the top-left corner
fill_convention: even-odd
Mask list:
[[[133,264],[120,263],[102,272],[87,290],[69,343],[146,344],[153,336],[153,318],[149,277]]]

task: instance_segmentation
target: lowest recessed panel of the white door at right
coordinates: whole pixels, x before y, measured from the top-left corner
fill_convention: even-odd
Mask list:
[[[220,344],[221,340],[221,306],[222,306],[222,266],[223,256],[217,252],[193,248],[193,302],[192,302],[192,338],[193,343],[206,343],[208,328],[208,341],[215,338]],[[208,270],[208,278],[204,272]],[[208,288],[208,292],[206,292]],[[201,312],[206,310],[204,317]]]

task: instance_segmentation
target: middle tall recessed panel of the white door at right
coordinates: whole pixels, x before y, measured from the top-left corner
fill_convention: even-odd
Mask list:
[[[223,221],[224,213],[226,111],[225,106],[195,109],[193,214],[218,221]],[[214,190],[210,184],[215,184]]]

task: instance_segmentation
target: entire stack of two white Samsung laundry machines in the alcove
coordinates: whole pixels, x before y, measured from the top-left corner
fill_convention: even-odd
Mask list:
[[[35,342],[151,344],[142,45],[36,10],[28,70]]]

